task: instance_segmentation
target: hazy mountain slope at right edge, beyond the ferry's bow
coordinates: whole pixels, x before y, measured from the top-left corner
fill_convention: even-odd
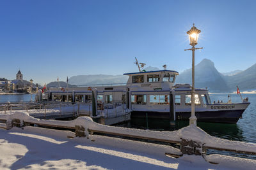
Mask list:
[[[225,76],[227,85],[233,91],[236,91],[238,85],[240,90],[256,89],[256,64],[248,69],[234,74],[233,76]]]

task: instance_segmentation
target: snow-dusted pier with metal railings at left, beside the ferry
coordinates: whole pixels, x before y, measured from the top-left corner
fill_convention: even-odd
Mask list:
[[[93,115],[93,106],[90,104],[71,103],[1,103],[0,115],[10,115],[15,111],[25,111],[29,116],[39,119],[72,120],[77,117],[92,117],[95,122],[104,125],[113,125],[131,119],[131,113],[124,104],[108,104],[97,110]]]

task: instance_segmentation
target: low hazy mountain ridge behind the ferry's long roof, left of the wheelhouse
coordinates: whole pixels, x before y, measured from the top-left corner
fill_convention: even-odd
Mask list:
[[[72,85],[98,85],[98,84],[111,84],[111,83],[126,83],[128,76],[124,75],[106,75],[106,74],[93,74],[93,75],[79,75],[69,78]]]

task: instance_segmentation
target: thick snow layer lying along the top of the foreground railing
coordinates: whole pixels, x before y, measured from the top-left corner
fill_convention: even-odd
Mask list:
[[[116,134],[125,134],[130,136],[140,136],[144,138],[156,138],[156,139],[164,139],[170,141],[180,141],[180,139],[188,139],[193,140],[198,143],[204,144],[204,146],[209,146],[212,148],[225,148],[233,150],[241,150],[244,152],[256,152],[256,144],[253,143],[245,143],[241,141],[229,141],[227,139],[216,138],[210,136],[206,132],[204,132],[199,127],[195,125],[189,125],[188,127],[184,127],[179,131],[145,131],[142,129],[131,129],[125,127],[113,127],[109,125],[102,125],[96,122],[93,122],[90,117],[79,117],[76,120],[72,121],[58,121],[58,120],[38,120],[33,117],[29,117],[28,113],[25,111],[15,111],[12,115],[8,117],[8,121],[11,121],[14,118],[18,118],[24,122],[31,123],[40,123],[40,124],[49,124],[49,125],[60,125],[66,127],[76,127],[76,125],[83,126],[88,134],[88,129],[95,131],[104,131],[109,133]],[[1,117],[0,117],[1,119]]]

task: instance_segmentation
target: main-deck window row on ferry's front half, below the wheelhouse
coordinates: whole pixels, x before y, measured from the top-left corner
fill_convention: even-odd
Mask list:
[[[131,104],[147,104],[147,97],[149,97],[149,104],[169,104],[169,95],[132,95]],[[202,94],[202,102],[208,104],[207,96]],[[175,95],[175,105],[180,105],[182,102],[181,95]],[[191,95],[185,95],[185,105],[191,105]],[[200,105],[198,94],[195,94],[195,105]]]

